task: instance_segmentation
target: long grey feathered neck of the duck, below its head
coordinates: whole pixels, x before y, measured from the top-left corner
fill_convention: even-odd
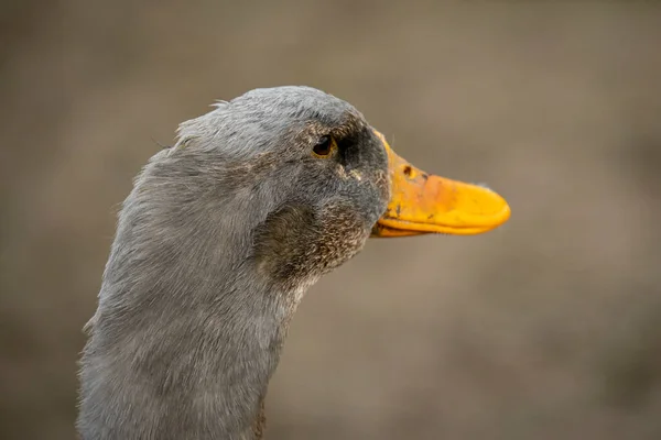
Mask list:
[[[120,215],[88,324],[82,437],[259,437],[291,295],[260,279],[236,251],[246,238],[219,234],[220,219],[187,212],[170,227],[175,213],[145,216],[136,197]],[[156,224],[163,219],[169,226]]]

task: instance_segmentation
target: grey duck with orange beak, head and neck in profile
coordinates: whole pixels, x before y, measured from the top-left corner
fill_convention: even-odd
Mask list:
[[[180,124],[121,205],[85,324],[84,440],[260,439],[306,290],[370,238],[469,235],[502,196],[399,156],[354,106],[281,86]]]

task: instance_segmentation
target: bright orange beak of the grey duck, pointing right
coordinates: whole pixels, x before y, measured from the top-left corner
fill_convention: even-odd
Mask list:
[[[391,196],[371,237],[490,231],[510,217],[507,201],[490,189],[426,174],[398,156],[375,130],[388,152]]]

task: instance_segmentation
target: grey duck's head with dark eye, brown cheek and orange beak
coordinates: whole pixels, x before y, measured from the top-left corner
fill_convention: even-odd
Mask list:
[[[195,186],[226,193],[218,212],[249,213],[237,222],[251,226],[251,256],[288,288],[310,285],[370,237],[476,234],[510,215],[485,187],[414,167],[353,106],[313,88],[252,90],[178,134],[172,157],[205,164]]]

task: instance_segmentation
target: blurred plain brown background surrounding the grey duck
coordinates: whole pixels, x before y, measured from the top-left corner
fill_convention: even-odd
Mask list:
[[[661,7],[0,4],[0,438],[75,437],[80,329],[159,143],[279,85],[513,215],[372,241],[312,288],[269,439],[661,438]]]

